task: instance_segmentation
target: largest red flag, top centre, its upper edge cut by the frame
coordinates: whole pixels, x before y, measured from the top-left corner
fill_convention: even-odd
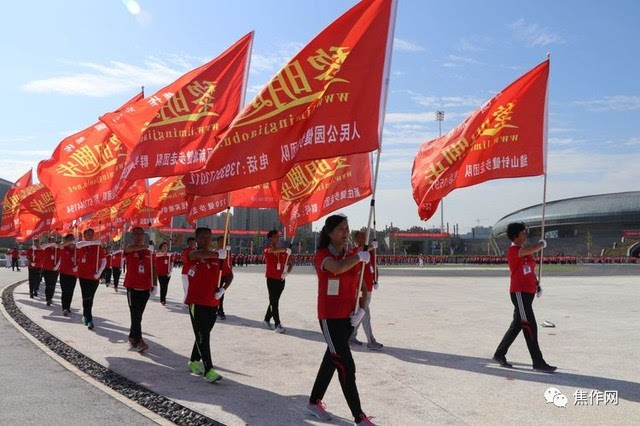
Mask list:
[[[187,192],[283,177],[297,162],[378,149],[395,0],[363,0],[307,44],[236,117]]]

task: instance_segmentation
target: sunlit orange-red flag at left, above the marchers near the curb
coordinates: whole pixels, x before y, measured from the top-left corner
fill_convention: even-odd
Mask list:
[[[142,99],[138,94],[120,107],[127,110]],[[127,148],[104,123],[96,123],[60,142],[48,160],[38,164],[38,178],[53,194],[58,219],[69,222],[120,197],[114,186],[120,181]],[[136,186],[136,191],[144,187]]]

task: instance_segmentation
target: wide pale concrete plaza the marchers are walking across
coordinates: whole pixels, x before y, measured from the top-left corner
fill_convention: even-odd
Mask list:
[[[124,292],[98,290],[94,331],[80,324],[78,288],[71,319],[61,315],[59,289],[52,307],[30,300],[26,284],[15,296],[30,318],[97,362],[225,424],[319,424],[302,409],[326,348],[315,317],[315,277],[303,269],[287,279],[283,335],[259,327],[267,306],[261,268],[236,269],[225,301],[228,319],[213,331],[214,364],[225,376],[214,385],[186,371],[193,336],[177,273],[169,304],[163,307],[155,298],[147,306],[143,331],[151,348],[145,355],[128,349]],[[637,424],[640,267],[635,274],[625,271],[543,278],[545,294],[535,312],[539,323],[557,326],[539,330],[545,358],[559,366],[554,375],[531,370],[522,337],[508,354],[516,368],[501,369],[490,360],[512,315],[506,271],[383,271],[372,310],[385,348],[354,355],[363,408],[389,425]],[[550,386],[567,396],[565,408],[545,403]],[[615,390],[619,402],[574,405],[579,389]],[[350,423],[337,379],[325,402],[333,424]]]

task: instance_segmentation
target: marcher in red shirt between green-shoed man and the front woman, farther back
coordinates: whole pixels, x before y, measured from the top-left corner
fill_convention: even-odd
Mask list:
[[[264,258],[267,265],[265,277],[267,278],[267,290],[269,291],[269,306],[262,321],[262,326],[266,329],[273,330],[276,333],[284,333],[286,329],[280,322],[280,296],[284,291],[285,278],[291,269],[293,263],[287,263],[287,259],[291,255],[291,249],[283,249],[278,247],[280,235],[278,231],[273,229],[267,234],[269,245],[264,248]],[[285,272],[285,267],[287,271]],[[271,327],[271,318],[274,321],[274,327]]]

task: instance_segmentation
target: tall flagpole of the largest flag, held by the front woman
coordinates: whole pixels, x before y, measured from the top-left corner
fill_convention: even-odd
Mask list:
[[[382,131],[384,129],[384,116],[387,108],[387,93],[389,91],[389,69],[391,68],[391,53],[393,51],[393,34],[396,26],[396,9],[398,3],[396,0],[392,0],[391,3],[391,16],[389,17],[389,32],[387,34],[387,52],[384,59],[384,74],[382,75],[382,88],[380,93],[380,111],[378,114],[378,140],[380,146],[378,147],[378,153],[376,157],[376,167],[373,172],[373,187],[371,190],[371,206],[369,208],[369,220],[367,222],[367,233],[364,239],[363,251],[369,250],[369,236],[371,234],[371,221],[373,219],[373,212],[376,205],[376,188],[378,184],[378,169],[380,168],[380,152],[382,151]],[[362,282],[364,281],[364,267],[360,270],[360,281],[358,288],[356,289],[355,306],[353,312],[358,312],[358,301],[360,299],[360,292],[362,291]]]

